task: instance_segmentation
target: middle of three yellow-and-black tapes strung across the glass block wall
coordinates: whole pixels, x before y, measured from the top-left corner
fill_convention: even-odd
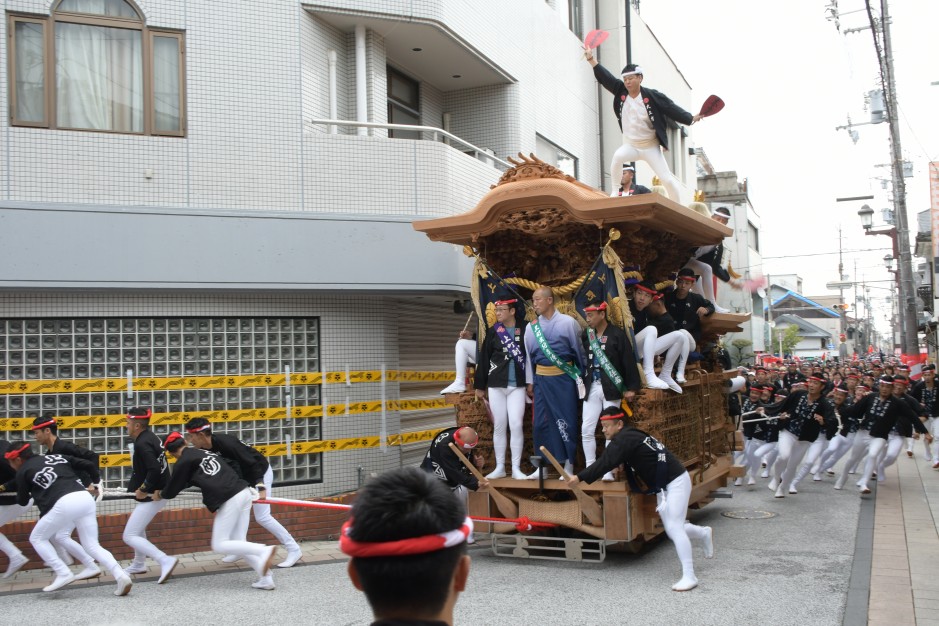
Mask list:
[[[385,402],[387,411],[428,411],[443,409],[448,405],[444,398],[431,398],[419,400],[388,400]],[[342,415],[359,415],[364,413],[380,413],[381,401],[352,402],[345,404],[326,405],[327,417]],[[195,417],[204,417],[210,422],[246,422],[262,420],[282,420],[287,418],[286,407],[272,407],[269,409],[227,409],[224,411],[174,411],[172,413],[154,413],[150,418],[151,426],[181,425]],[[290,410],[291,419],[309,417],[323,417],[323,406],[314,404],[310,406],[295,406]],[[123,426],[127,416],[123,413],[108,415],[66,415],[56,416],[59,428],[114,428]],[[32,420],[28,418],[11,417],[0,419],[0,431],[29,430]]]

